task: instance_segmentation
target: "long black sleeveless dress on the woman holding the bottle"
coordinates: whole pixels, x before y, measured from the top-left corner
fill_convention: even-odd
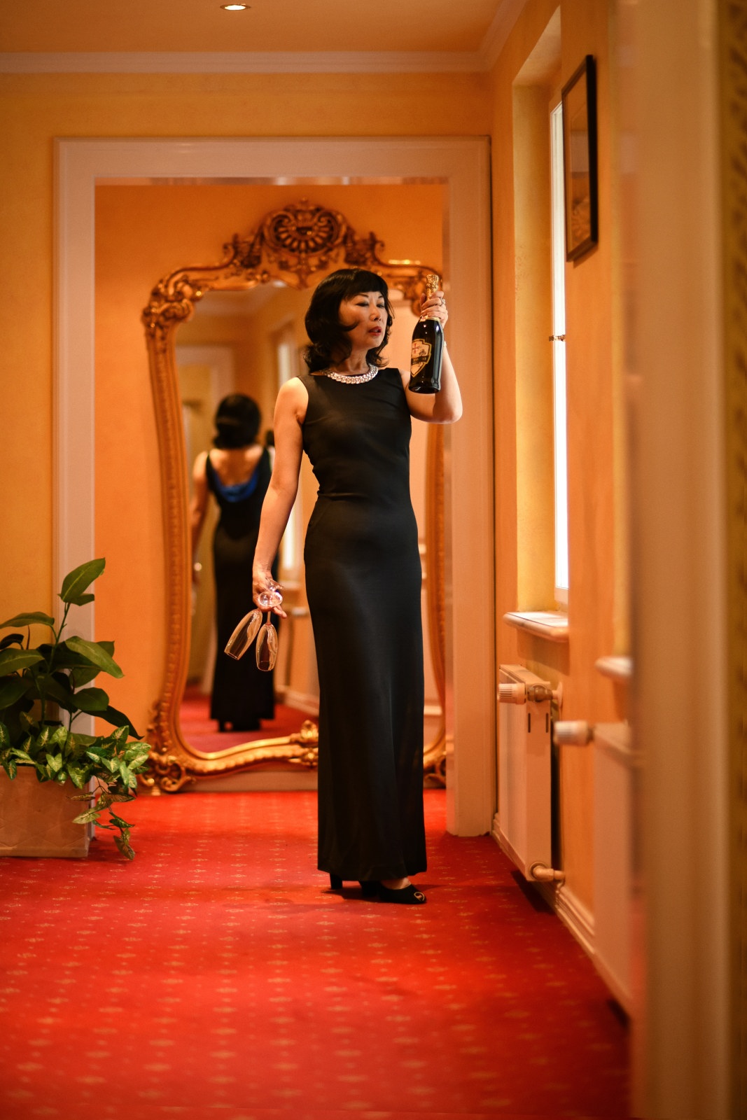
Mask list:
[[[319,482],[304,553],[319,670],[318,866],[395,879],[426,869],[410,412],[396,370],[357,384],[301,380]]]

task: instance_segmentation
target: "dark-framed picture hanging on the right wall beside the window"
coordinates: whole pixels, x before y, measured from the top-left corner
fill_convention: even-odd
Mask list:
[[[566,260],[597,244],[597,76],[587,55],[562,88]]]

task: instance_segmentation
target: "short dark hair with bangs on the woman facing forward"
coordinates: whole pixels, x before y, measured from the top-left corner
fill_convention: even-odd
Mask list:
[[[352,299],[362,291],[380,291],[384,297],[386,306],[384,339],[381,346],[370,349],[366,355],[371,365],[384,365],[381,352],[389,342],[389,333],[394,321],[386,281],[376,272],[368,272],[366,269],[338,269],[317,286],[306,312],[306,332],[311,345],[307,346],[304,358],[310,373],[326,370],[333,361],[339,361],[340,355],[349,356],[353,348],[347,337],[349,328],[339,321],[339,305],[344,299]]]

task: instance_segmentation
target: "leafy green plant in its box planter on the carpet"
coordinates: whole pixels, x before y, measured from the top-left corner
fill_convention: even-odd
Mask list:
[[[63,637],[71,607],[93,600],[87,589],[104,567],[103,559],[90,560],[65,577],[59,626],[40,610],[0,624],[0,631],[11,629],[0,640],[0,765],[7,775],[0,774],[0,855],[85,856],[88,825],[95,823],[113,830],[122,855],[134,857],[131,825],[112,805],[134,797],[150,747],[129,741],[141,740],[131,720],[92,685],[101,672],[123,675],[112,656],[114,643]],[[47,626],[50,637],[32,648],[30,627],[37,624]],[[75,731],[83,712],[113,729],[97,736]],[[68,783],[81,792],[68,793]],[[74,815],[78,801],[88,808]],[[108,823],[101,820],[104,812]]]

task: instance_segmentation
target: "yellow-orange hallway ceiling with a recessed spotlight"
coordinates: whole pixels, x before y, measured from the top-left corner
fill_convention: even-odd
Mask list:
[[[479,52],[516,0],[3,0],[0,52]]]

